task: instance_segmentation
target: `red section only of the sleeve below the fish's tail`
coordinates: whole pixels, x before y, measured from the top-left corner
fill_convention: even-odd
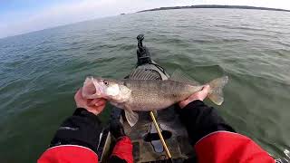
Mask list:
[[[252,139],[228,131],[217,131],[195,145],[199,163],[275,163]]]

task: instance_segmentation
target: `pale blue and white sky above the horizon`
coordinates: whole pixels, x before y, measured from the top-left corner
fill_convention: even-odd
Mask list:
[[[0,38],[176,5],[252,5],[290,9],[290,0],[0,0]]]

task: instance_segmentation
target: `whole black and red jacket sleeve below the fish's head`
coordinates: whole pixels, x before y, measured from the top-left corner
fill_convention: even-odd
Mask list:
[[[38,159],[39,163],[95,163],[98,162],[97,145],[102,131],[97,116],[77,109],[57,129],[50,149]]]

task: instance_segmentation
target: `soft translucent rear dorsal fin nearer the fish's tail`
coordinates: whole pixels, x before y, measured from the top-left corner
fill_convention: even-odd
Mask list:
[[[189,75],[187,75],[184,72],[181,72],[180,69],[177,69],[172,73],[172,75],[169,78],[170,81],[175,81],[175,82],[186,82],[190,83],[191,85],[200,85],[199,82],[191,79]]]

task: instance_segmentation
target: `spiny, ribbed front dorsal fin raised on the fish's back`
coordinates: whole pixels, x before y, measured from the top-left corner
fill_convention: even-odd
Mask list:
[[[135,69],[129,77],[131,80],[159,80],[160,75],[147,69]]]

